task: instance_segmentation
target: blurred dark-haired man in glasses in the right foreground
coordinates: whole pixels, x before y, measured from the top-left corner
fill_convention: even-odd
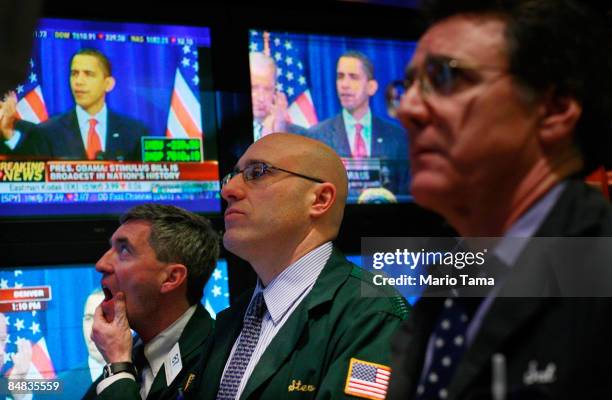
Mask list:
[[[612,207],[582,182],[612,154],[601,15],[572,0],[428,3],[398,109],[416,201],[463,237],[612,236]],[[473,307],[415,305],[394,338],[389,398],[610,396],[612,264],[566,252],[569,264],[538,243],[495,248],[508,275]],[[527,297],[510,291],[521,275]]]

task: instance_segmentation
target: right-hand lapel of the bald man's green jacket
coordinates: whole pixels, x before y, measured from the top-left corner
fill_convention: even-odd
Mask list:
[[[259,386],[279,370],[293,353],[308,323],[309,314],[315,312],[319,306],[333,300],[336,291],[351,273],[350,268],[338,267],[343,260],[344,256],[334,249],[310,293],[295,309],[259,359],[241,398],[249,398]]]

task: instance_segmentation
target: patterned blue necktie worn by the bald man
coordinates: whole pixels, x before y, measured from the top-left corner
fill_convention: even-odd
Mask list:
[[[244,324],[236,350],[223,374],[221,385],[217,392],[217,400],[233,400],[236,398],[238,387],[246,370],[255,346],[259,341],[261,332],[261,321],[266,312],[266,302],[263,292],[259,292],[244,316]]]

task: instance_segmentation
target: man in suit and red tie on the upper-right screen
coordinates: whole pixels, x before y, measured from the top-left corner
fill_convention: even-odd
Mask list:
[[[365,54],[347,51],[338,59],[336,90],[342,112],[310,128],[308,136],[327,144],[340,157],[380,159],[381,185],[394,194],[408,193],[406,132],[372,114],[370,97],[377,92],[378,82]]]

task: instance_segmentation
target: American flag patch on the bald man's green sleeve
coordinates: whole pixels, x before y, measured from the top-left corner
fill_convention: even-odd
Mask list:
[[[387,396],[391,368],[351,358],[344,393],[365,399],[384,399]]]

